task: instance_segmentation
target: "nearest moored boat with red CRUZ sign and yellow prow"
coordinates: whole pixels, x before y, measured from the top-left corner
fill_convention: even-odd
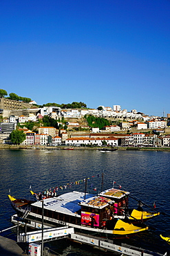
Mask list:
[[[127,236],[148,229],[144,223],[134,225],[129,219],[114,218],[114,201],[105,196],[67,192],[41,201],[9,196],[19,216],[43,221],[49,226],[69,226],[79,232],[98,235]]]

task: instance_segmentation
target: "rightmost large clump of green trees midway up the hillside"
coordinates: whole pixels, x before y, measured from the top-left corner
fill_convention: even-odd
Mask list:
[[[95,116],[85,115],[85,119],[88,122],[89,127],[102,129],[106,125],[111,125],[111,122],[105,118],[96,118]]]

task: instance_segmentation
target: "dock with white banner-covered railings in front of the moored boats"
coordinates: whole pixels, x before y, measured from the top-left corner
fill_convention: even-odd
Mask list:
[[[164,252],[164,255],[160,253],[152,252],[145,250],[144,248],[137,248],[134,246],[129,246],[128,244],[116,244],[113,239],[107,239],[103,237],[96,237],[94,235],[87,235],[79,232],[74,232],[74,228],[69,226],[63,226],[60,228],[52,228],[50,226],[41,229],[42,226],[40,223],[32,220],[29,223],[24,223],[22,220],[19,220],[16,215],[12,217],[12,222],[18,226],[31,226],[39,227],[39,230],[34,230],[33,232],[21,232],[17,234],[17,242],[6,237],[0,236],[0,255],[6,256],[23,256],[29,255],[31,246],[37,246],[43,250],[43,241],[52,241],[56,239],[69,239],[70,241],[77,242],[78,244],[84,244],[87,246],[92,246],[92,248],[97,250],[108,251],[111,253],[116,253],[117,255],[127,255],[127,256],[165,256],[167,255]],[[12,228],[12,227],[11,227]],[[13,227],[14,228],[14,227]],[[7,228],[6,230],[8,230]],[[3,232],[3,230],[1,231]],[[34,243],[31,245],[31,243]],[[41,246],[42,243],[42,246]],[[21,248],[22,245],[22,248]],[[49,248],[50,249],[50,248]],[[1,253],[2,252],[2,253]],[[49,251],[50,252],[50,251]],[[38,254],[37,254],[38,255]],[[41,254],[39,254],[41,255]],[[45,254],[46,255],[46,254]],[[52,255],[47,254],[47,255]]]

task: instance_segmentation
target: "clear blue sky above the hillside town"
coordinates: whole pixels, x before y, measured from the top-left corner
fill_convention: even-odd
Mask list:
[[[0,88],[170,113],[169,0],[1,0]]]

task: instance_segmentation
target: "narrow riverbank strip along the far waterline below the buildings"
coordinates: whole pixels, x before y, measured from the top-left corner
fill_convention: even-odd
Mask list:
[[[0,144],[0,149],[45,149],[45,150],[56,150],[56,149],[83,149],[83,150],[98,150],[103,147],[74,147],[71,148],[68,146],[43,146],[43,145],[6,145]],[[111,147],[107,147],[111,149]],[[170,147],[114,147],[116,150],[140,150],[140,151],[167,151],[170,152]]]

